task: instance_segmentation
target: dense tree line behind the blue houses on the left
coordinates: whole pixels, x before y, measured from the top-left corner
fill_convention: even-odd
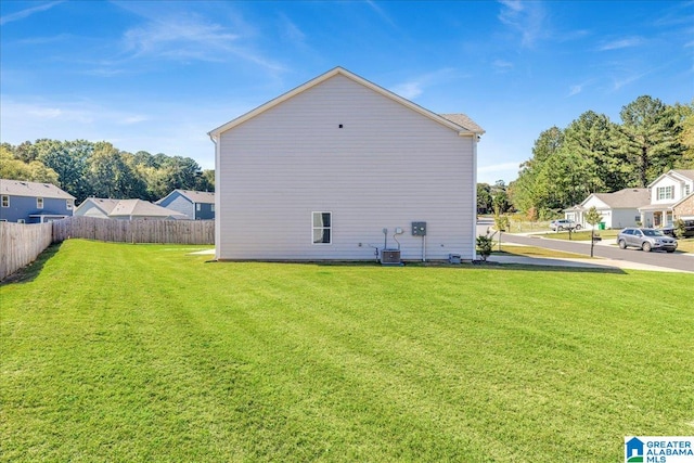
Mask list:
[[[53,183],[75,196],[156,201],[175,189],[214,191],[215,171],[190,157],[134,154],[113,144],[49,139],[0,145],[0,178]]]

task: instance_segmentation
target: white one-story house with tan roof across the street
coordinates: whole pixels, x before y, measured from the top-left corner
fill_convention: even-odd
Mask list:
[[[591,226],[586,221],[586,215],[591,207],[602,215],[602,228],[622,229],[635,227],[641,220],[639,207],[650,202],[647,188],[627,188],[614,193],[592,193],[581,204],[570,209],[565,209],[565,217],[574,220],[583,229]],[[596,228],[600,224],[595,226]]]

